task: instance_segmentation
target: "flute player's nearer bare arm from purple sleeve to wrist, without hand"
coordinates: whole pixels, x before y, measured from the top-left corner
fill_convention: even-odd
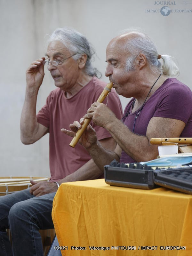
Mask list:
[[[158,155],[158,145],[151,145],[151,138],[179,137],[185,123],[171,118],[151,118],[146,136],[131,132],[121,121],[114,119],[106,125],[119,146],[135,161],[149,161]]]

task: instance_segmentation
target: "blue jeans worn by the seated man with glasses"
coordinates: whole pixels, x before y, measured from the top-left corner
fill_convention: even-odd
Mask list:
[[[35,197],[25,189],[0,196],[0,256],[44,255],[39,229],[54,228],[55,193]],[[11,230],[12,248],[6,228]]]

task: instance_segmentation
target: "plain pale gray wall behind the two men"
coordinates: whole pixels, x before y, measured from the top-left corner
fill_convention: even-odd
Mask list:
[[[167,4],[172,12],[166,17],[159,12],[164,5],[156,3],[162,2],[0,0],[0,177],[49,176],[48,135],[33,145],[22,145],[20,114],[25,97],[25,70],[31,61],[44,56],[46,34],[55,28],[69,26],[87,36],[96,48],[95,66],[106,82],[105,49],[109,40],[123,29],[143,28],[156,42],[160,54],[177,59],[179,80],[192,88],[192,13],[188,11],[192,9],[192,0],[170,2],[174,5]],[[54,88],[52,77],[46,71],[37,111]],[[128,99],[121,100],[124,107]]]

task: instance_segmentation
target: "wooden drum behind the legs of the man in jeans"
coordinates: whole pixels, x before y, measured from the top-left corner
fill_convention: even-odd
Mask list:
[[[41,181],[49,180],[48,178],[43,177],[0,177],[0,196],[5,196],[16,191],[20,191],[26,188],[30,188],[30,180]],[[54,229],[39,230],[41,234],[41,239],[43,243],[44,255],[47,255],[49,248],[52,244],[53,238],[55,236]],[[8,235],[11,241],[11,235],[8,230]]]

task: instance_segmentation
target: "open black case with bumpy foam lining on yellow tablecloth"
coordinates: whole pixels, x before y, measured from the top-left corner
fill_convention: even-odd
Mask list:
[[[115,159],[104,166],[105,182],[112,186],[153,189],[159,186],[192,195],[192,167],[156,168],[147,164],[118,163]]]

